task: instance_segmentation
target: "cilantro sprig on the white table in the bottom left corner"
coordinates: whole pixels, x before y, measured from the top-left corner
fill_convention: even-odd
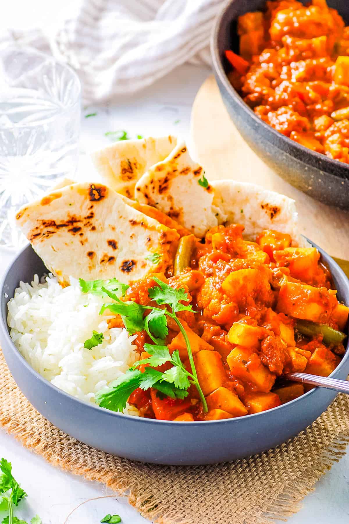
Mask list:
[[[27,497],[27,494],[12,475],[10,462],[1,459],[0,470],[2,471],[0,476],[0,494],[2,495],[0,497],[0,508],[8,511],[8,515],[2,520],[2,524],[27,524],[24,520],[14,516],[14,507],[17,507],[18,503]],[[30,522],[31,524],[42,524],[38,515],[33,517]]]

